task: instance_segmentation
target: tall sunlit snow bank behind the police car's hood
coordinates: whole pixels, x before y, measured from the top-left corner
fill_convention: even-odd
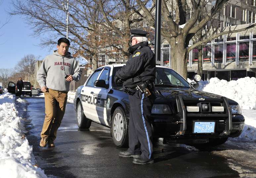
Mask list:
[[[256,78],[245,77],[227,82],[211,78],[203,91],[235,100],[241,109],[256,109]]]

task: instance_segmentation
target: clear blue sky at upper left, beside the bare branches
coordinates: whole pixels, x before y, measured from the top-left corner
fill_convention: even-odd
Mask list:
[[[9,17],[6,11],[12,9],[10,2],[11,0],[3,0],[0,4],[1,24]],[[26,54],[40,55],[40,59],[43,59],[52,53],[50,47],[42,49],[38,46],[41,37],[31,36],[33,30],[30,28],[23,17],[12,16],[10,22],[0,29],[0,68],[14,68]]]

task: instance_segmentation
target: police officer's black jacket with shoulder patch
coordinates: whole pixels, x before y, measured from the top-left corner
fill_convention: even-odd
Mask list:
[[[155,55],[148,42],[141,42],[129,48],[131,53],[126,64],[116,72],[124,81],[123,87],[135,88],[142,80],[155,81]],[[139,78],[140,76],[140,78]]]

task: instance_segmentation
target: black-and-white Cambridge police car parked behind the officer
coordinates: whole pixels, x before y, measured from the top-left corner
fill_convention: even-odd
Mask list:
[[[79,128],[89,128],[91,122],[107,126],[115,145],[127,147],[128,94],[122,85],[114,83],[114,75],[122,66],[106,65],[95,70],[77,88],[74,108]],[[194,80],[200,81],[196,76]],[[219,145],[241,134],[244,117],[237,102],[196,90],[177,72],[163,66],[156,66],[154,85],[151,123],[155,138],[163,138],[164,143]]]

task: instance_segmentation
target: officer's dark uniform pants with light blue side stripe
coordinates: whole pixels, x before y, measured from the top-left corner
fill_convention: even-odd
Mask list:
[[[128,152],[141,155],[144,159],[151,159],[153,153],[152,128],[149,121],[155,95],[149,97],[136,91],[129,95],[129,149]]]

